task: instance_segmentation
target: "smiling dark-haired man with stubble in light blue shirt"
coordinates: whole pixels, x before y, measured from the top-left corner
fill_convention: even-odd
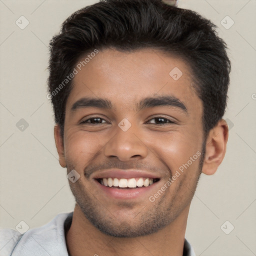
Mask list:
[[[49,94],[74,211],[3,255],[195,255],[185,239],[200,174],[228,137],[230,62],[214,25],[160,0],[105,0],[50,43]]]

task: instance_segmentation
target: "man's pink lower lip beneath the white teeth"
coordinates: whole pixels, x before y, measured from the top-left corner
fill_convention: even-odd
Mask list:
[[[136,188],[117,188],[117,187],[109,187],[102,185],[99,183],[97,180],[94,180],[97,185],[99,186],[100,189],[102,189],[108,196],[111,196],[116,199],[133,199],[133,198],[139,198],[146,193],[149,193],[150,190],[154,189],[156,183],[159,182],[154,182],[153,184],[149,186],[142,186],[142,187],[136,187]],[[150,193],[151,195],[151,193]],[[149,197],[149,196],[148,196]]]

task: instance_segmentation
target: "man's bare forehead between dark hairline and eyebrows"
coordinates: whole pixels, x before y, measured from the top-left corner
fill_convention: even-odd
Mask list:
[[[82,62],[85,58],[78,61],[83,63],[79,68],[76,65],[78,72],[67,106],[82,96],[109,98],[112,106],[118,108],[135,107],[141,98],[154,95],[200,103],[191,86],[190,68],[178,57],[154,49],[132,52],[104,49]]]

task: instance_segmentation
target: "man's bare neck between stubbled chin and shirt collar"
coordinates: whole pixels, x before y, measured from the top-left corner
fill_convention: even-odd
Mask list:
[[[76,204],[70,229],[66,233],[67,250],[71,256],[182,256],[188,210],[189,205],[168,226],[155,233],[120,238],[99,231]]]

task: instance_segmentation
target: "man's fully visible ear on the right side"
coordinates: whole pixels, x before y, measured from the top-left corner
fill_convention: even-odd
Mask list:
[[[222,162],[228,139],[228,126],[225,120],[218,121],[216,126],[209,131],[205,145],[205,157],[202,172],[212,175]]]

